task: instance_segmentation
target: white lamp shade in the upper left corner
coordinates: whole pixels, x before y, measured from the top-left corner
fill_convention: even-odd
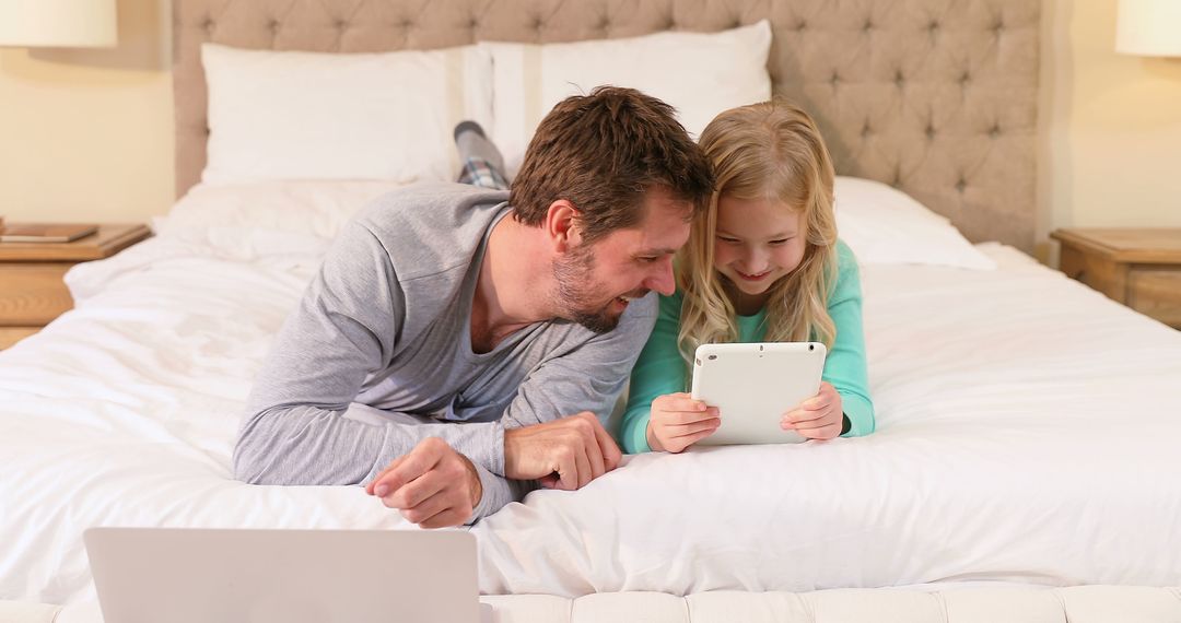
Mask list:
[[[115,1],[0,0],[0,46],[113,46]]]

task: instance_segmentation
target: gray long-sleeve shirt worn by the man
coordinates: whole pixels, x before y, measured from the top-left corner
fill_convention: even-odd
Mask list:
[[[524,491],[505,479],[504,429],[581,411],[606,421],[655,321],[655,295],[598,335],[530,324],[471,348],[471,303],[507,194],[411,186],[376,201],[327,254],[247,404],[234,471],[268,485],[353,485],[439,437],[471,459],[471,520]],[[548,270],[548,267],[544,269]]]

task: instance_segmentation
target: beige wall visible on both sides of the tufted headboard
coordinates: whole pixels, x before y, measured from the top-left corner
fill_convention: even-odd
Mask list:
[[[172,201],[169,0],[117,50],[0,48],[0,214],[146,221]],[[1116,0],[1043,0],[1039,235],[1181,227],[1181,59],[1114,52]]]

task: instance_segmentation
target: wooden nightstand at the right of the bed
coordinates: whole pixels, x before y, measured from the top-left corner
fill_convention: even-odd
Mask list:
[[[1059,229],[1058,265],[1141,314],[1181,329],[1181,229]]]

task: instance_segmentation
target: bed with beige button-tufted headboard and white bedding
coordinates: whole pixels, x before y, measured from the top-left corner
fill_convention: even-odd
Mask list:
[[[274,333],[339,227],[409,179],[198,183],[209,150],[227,151],[208,136],[227,117],[209,118],[202,42],[550,46],[764,19],[770,87],[817,117],[854,176],[839,225],[862,261],[879,429],[629,457],[578,492],[534,492],[471,529],[482,599],[507,622],[1181,621],[1181,333],[1023,253],[1036,4],[174,11],[183,198],[156,237],[74,268],[76,309],[0,353],[0,621],[102,619],[80,540],[94,525],[411,527],[359,487],[230,477]],[[439,63],[465,77],[448,114],[479,106],[474,61]]]

